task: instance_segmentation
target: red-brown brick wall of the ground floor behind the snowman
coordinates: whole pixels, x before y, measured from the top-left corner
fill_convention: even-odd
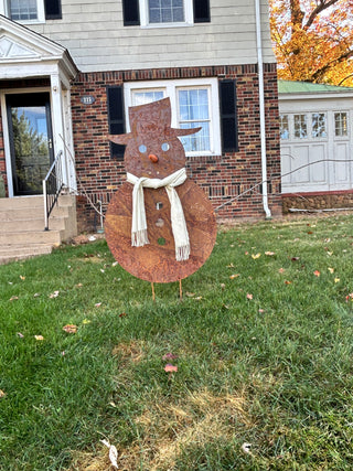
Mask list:
[[[256,65],[81,74],[72,89],[75,158],[77,175],[93,203],[100,200],[106,207],[114,191],[125,181],[124,163],[110,159],[109,142],[105,138],[108,133],[106,86],[130,81],[196,77],[236,79],[239,151],[218,157],[189,158],[188,174],[205,190],[218,218],[264,217]],[[83,105],[81,97],[84,95],[94,96],[95,103]],[[265,97],[269,207],[274,214],[278,214],[281,213],[281,199],[275,64],[265,65]],[[242,193],[237,200],[218,208]],[[78,199],[77,207],[79,228],[90,228],[95,216],[85,196]]]

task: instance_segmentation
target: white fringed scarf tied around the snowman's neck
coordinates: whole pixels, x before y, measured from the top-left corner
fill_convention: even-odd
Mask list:
[[[145,211],[143,188],[159,189],[164,186],[169,201],[172,232],[175,243],[176,261],[188,260],[190,256],[190,240],[185,223],[184,212],[181,201],[175,191],[175,186],[181,185],[186,180],[185,168],[178,170],[164,179],[138,178],[132,173],[127,173],[127,181],[133,184],[132,191],[132,226],[131,226],[131,245],[142,247],[149,244],[147,235],[147,221]]]

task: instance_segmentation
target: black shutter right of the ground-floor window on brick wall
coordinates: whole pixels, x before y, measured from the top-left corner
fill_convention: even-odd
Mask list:
[[[220,82],[221,129],[223,152],[238,151],[235,81]]]

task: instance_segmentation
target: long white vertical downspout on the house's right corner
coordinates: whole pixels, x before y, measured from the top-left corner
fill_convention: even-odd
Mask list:
[[[258,94],[260,109],[260,135],[261,135],[261,170],[263,170],[263,206],[266,218],[271,217],[268,207],[267,195],[267,156],[266,156],[266,120],[265,120],[265,92],[264,92],[264,61],[263,61],[263,41],[261,41],[261,12],[260,0],[255,0],[256,15],[256,44],[257,44],[257,66],[258,66]]]

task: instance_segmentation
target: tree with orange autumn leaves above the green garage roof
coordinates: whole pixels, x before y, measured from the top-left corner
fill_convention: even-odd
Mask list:
[[[269,0],[278,76],[353,86],[353,0]]]

